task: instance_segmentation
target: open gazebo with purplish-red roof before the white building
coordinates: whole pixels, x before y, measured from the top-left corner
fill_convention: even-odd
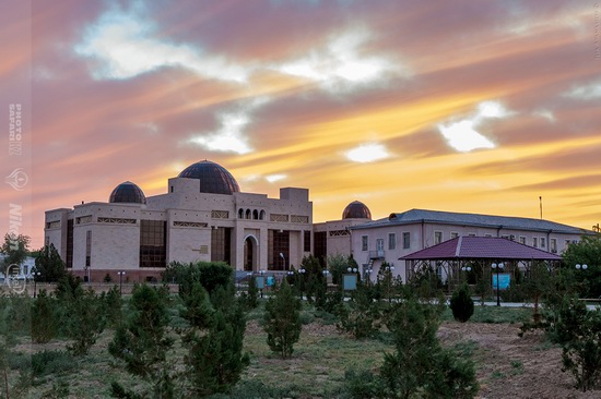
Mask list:
[[[468,270],[484,278],[491,276],[493,264],[503,264],[504,274],[516,276],[516,270],[520,270],[528,278],[532,277],[530,273],[533,264],[545,263],[549,270],[552,270],[562,257],[505,238],[457,237],[399,259],[405,261],[408,281],[420,273],[436,270],[448,282],[450,292],[466,280]]]

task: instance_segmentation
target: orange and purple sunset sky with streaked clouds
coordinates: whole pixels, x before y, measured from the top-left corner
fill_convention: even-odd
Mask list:
[[[244,192],[310,190],[314,220],[426,208],[601,222],[593,1],[0,0],[0,121],[44,211],[150,196],[213,160]],[[4,154],[9,138],[3,140]]]

